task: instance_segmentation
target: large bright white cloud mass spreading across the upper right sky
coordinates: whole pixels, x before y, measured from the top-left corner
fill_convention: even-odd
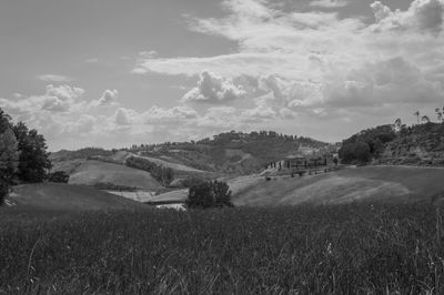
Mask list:
[[[268,3],[224,1],[225,17],[189,19],[193,31],[236,41],[236,52],[142,59],[134,71],[188,77],[218,72],[230,83],[236,81],[246,100],[256,96],[262,101],[256,106],[270,108],[275,118],[303,113],[322,118],[341,113],[345,118],[351,111],[370,114],[374,113],[370,109],[377,109],[381,113],[381,108],[394,113],[396,104],[413,109],[437,103],[444,95],[444,0],[415,0],[407,10],[392,10],[376,1],[371,6],[375,22],[370,24],[361,18],[282,11]],[[230,101],[221,99],[218,91],[205,92],[215,88],[202,87],[203,81],[201,75],[199,85],[183,100]]]

